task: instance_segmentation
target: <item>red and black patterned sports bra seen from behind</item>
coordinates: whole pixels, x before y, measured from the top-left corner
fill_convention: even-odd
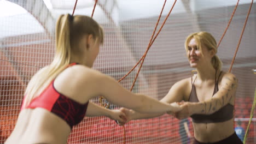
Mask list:
[[[69,66],[75,64],[76,63],[72,63]],[[53,80],[38,97],[31,101],[29,105],[25,107],[22,103],[21,110],[36,109],[37,107],[41,107],[62,118],[72,129],[74,125],[80,123],[83,120],[88,107],[88,103],[89,102],[80,104],[77,101],[74,101],[57,92],[57,90],[54,88]]]

